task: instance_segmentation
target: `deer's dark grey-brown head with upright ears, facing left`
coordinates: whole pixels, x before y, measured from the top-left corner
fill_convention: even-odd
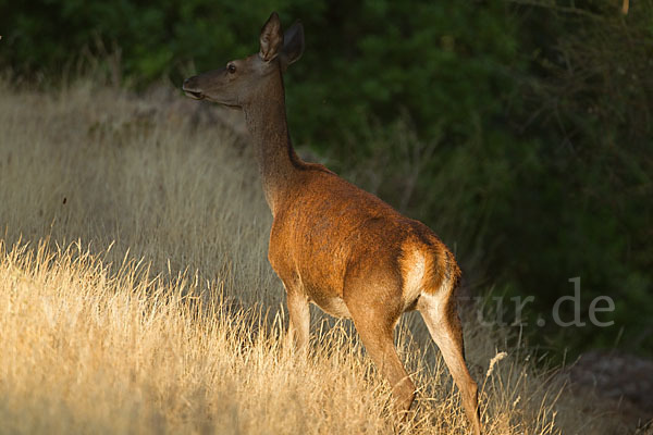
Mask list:
[[[279,15],[272,12],[261,29],[259,42],[258,53],[230,61],[222,70],[187,78],[182,89],[197,100],[235,108],[247,105],[269,86],[269,80],[279,79],[281,73],[301,57],[304,26],[297,22],[283,34]]]

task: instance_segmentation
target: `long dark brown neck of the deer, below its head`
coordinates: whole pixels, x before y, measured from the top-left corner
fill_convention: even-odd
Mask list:
[[[303,166],[291,144],[281,73],[274,78],[274,86],[266,86],[251,104],[243,108],[266,201],[273,215],[288,197]]]

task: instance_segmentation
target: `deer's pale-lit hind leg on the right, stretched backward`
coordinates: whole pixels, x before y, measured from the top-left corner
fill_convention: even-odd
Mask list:
[[[440,348],[454,382],[460,390],[463,407],[475,435],[481,434],[481,419],[478,407],[478,386],[465,363],[463,327],[456,311],[454,293],[441,288],[438,294],[422,293],[417,309],[421,313],[431,337]]]

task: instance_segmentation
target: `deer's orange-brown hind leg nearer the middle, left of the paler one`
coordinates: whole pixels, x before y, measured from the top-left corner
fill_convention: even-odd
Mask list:
[[[394,345],[394,326],[399,314],[387,313],[383,304],[350,302],[347,308],[368,355],[392,387],[395,411],[405,419],[415,399],[415,384]]]

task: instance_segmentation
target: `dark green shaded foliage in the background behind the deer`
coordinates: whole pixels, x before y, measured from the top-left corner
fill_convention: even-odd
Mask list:
[[[534,295],[531,324],[574,276],[586,309],[614,298],[615,326],[552,345],[653,352],[653,1],[528,3],[5,1],[0,65],[29,80],[113,53],[137,87],[178,84],[255,52],[270,11],[301,18],[296,144],[435,228],[467,285]]]

